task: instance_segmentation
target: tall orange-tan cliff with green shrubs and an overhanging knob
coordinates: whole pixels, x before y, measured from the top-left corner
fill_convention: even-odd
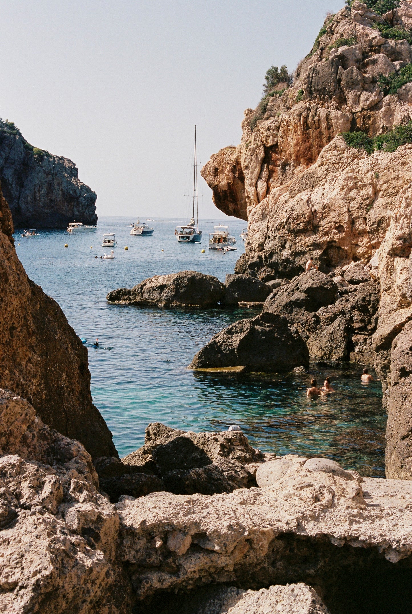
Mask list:
[[[310,255],[340,296],[351,292],[346,280],[362,286],[351,294],[355,326],[343,297],[314,314],[319,334],[313,317],[298,323],[313,335],[312,356],[375,363],[388,411],[386,475],[411,479],[412,2],[394,0],[386,13],[374,0],[347,4],[326,18],[292,85],[247,109],[241,144],[202,174],[218,208],[242,219],[247,211],[237,273],[289,282]]]

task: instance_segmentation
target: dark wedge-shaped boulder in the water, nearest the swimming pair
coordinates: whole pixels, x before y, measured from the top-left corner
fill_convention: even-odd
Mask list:
[[[217,333],[196,354],[190,368],[243,365],[252,371],[282,372],[308,364],[308,348],[299,333],[284,317],[266,312]]]

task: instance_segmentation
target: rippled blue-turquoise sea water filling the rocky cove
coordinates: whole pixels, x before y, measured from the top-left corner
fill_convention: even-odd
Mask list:
[[[17,254],[29,277],[58,301],[77,334],[88,340],[93,401],[120,456],[142,445],[149,422],[192,430],[239,424],[263,451],[322,454],[363,475],[384,476],[381,386],[362,386],[356,365],[335,371],[311,365],[310,375],[303,376],[194,373],[186,367],[212,335],[255,313],[107,304],[109,290],[134,286],[154,274],[191,269],[224,281],[244,251],[239,239],[244,222],[230,222],[238,251],[227,253],[208,250],[208,233],[219,220],[202,223],[201,245],[177,243],[174,227],[184,220],[148,222],[155,228],[152,237],[130,236],[131,221],[102,217],[95,233],[81,235],[52,230],[22,239],[15,234]],[[104,232],[116,234],[114,260],[99,258]],[[92,347],[96,337],[98,349]],[[319,381],[332,376],[336,394],[308,400],[305,389],[313,375]]]

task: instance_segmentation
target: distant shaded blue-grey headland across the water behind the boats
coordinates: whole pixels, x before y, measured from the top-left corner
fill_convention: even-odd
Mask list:
[[[2,120],[0,181],[17,228],[97,222],[96,193],[79,180],[74,162],[33,147],[13,122]]]

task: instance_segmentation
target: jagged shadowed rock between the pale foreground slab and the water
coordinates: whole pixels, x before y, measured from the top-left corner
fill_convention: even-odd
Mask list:
[[[156,490],[211,495],[255,486],[253,465],[263,460],[239,431],[191,433],[154,422],[144,446],[128,454],[123,465],[159,476],[163,488]]]

